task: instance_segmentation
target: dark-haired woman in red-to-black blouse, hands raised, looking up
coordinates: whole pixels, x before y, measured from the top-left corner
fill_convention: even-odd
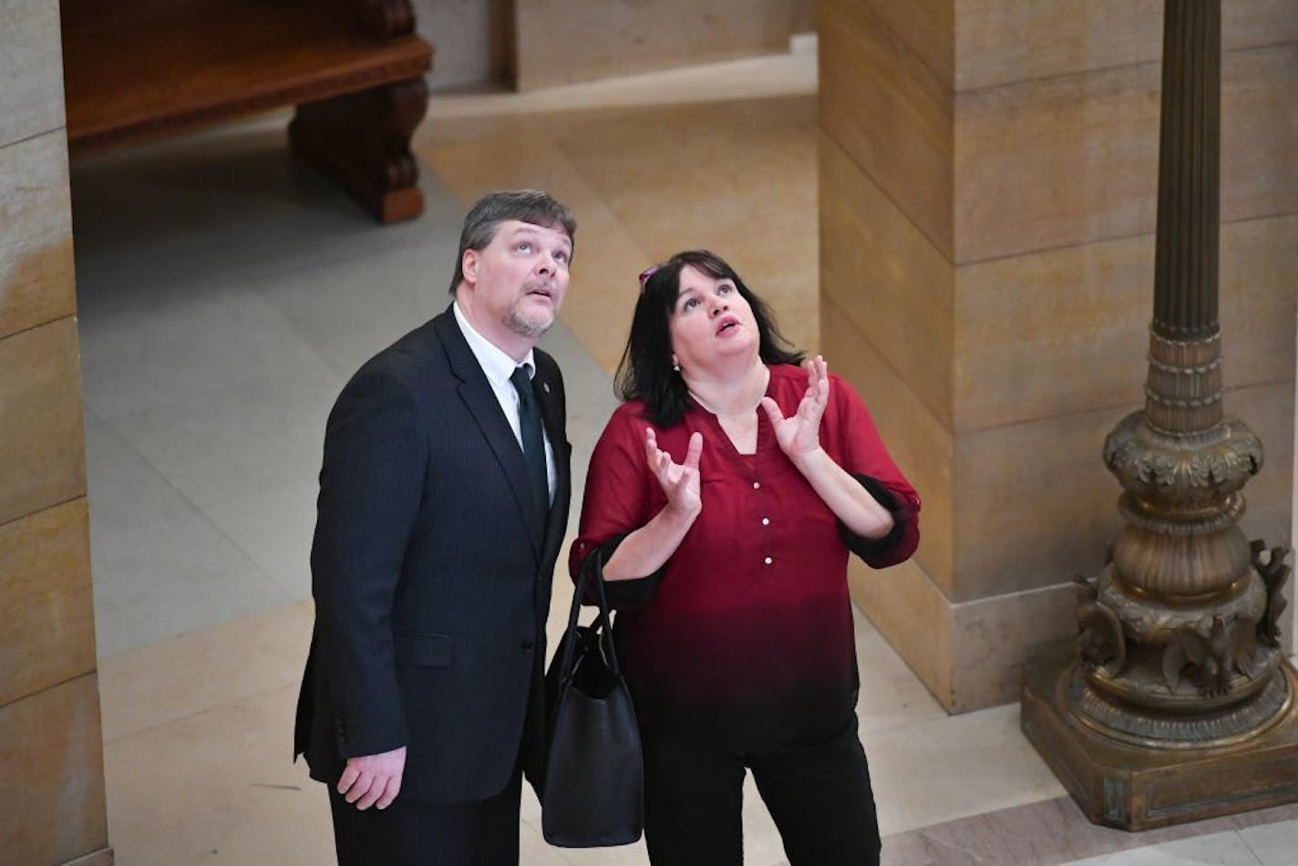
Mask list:
[[[570,570],[597,569],[645,748],[655,866],[742,862],[744,774],[793,866],[877,863],[848,554],[919,543],[855,392],[706,251],[641,274]]]

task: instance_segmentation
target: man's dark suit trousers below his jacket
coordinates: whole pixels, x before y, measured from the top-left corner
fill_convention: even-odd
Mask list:
[[[328,786],[339,866],[518,866],[520,776],[478,802],[419,802],[397,795],[365,811]]]

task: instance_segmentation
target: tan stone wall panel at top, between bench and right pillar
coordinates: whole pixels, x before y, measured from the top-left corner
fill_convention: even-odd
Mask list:
[[[515,3],[519,90],[787,52],[810,0]]]

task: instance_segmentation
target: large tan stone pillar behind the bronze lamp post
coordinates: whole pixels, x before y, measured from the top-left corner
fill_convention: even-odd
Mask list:
[[[1288,544],[1298,18],[1225,4],[1220,322],[1267,443],[1247,538]],[[1016,701],[1121,526],[1101,458],[1144,405],[1158,0],[822,0],[820,303],[924,497],[915,560],[853,595],[951,711]]]

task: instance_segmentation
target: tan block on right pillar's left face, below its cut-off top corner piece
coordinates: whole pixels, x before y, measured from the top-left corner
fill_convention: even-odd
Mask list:
[[[954,103],[871,4],[822,3],[820,125],[948,258]]]

